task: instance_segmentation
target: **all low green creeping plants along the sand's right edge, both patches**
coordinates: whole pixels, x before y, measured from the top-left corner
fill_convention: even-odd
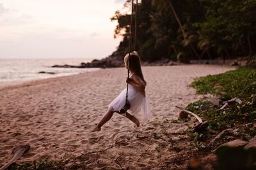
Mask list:
[[[200,94],[222,95],[224,100],[238,97],[241,104],[228,105],[224,110],[209,101],[200,99],[186,109],[202,116],[209,122],[209,128],[221,130],[240,124],[256,122],[256,70],[242,67],[234,71],[205,76],[191,83]],[[251,131],[255,131],[252,129]],[[252,136],[254,133],[245,131]]]

